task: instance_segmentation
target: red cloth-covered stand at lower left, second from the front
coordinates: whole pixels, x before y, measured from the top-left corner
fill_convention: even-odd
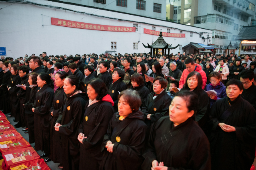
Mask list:
[[[9,169],[10,166],[15,167],[18,164],[40,159],[40,156],[32,147],[7,150],[4,151],[2,155],[4,158],[2,164],[3,169]]]

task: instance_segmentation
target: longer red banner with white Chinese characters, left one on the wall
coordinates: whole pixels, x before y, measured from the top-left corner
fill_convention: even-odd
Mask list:
[[[51,18],[52,25],[70,27],[70,28],[80,28],[86,30],[98,30],[98,31],[113,31],[113,32],[135,32],[135,27],[125,27],[125,26],[107,26],[99,24],[90,24],[85,22],[76,22],[70,20],[62,20],[58,18]]]

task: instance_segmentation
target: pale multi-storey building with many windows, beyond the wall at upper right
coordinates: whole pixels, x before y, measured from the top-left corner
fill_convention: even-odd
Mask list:
[[[255,0],[167,0],[166,3],[167,10],[169,4],[177,6],[176,22],[212,30],[208,43],[221,48],[226,48],[230,41],[237,47],[240,41],[235,39],[242,27],[256,24]]]

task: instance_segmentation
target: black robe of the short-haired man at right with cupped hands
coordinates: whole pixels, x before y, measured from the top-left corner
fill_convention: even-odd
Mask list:
[[[234,101],[219,99],[209,115],[212,170],[250,170],[256,147],[255,109],[239,95]],[[235,127],[236,132],[224,132],[219,123]]]

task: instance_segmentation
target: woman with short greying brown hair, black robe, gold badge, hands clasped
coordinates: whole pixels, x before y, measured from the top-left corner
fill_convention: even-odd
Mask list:
[[[103,140],[100,170],[140,169],[147,131],[140,105],[136,91],[128,89],[118,96],[118,112],[112,116]]]

